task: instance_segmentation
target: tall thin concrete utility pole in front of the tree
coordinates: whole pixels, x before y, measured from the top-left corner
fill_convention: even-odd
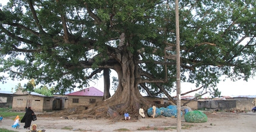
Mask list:
[[[182,117],[180,111],[180,28],[179,28],[179,0],[175,0],[175,21],[176,21],[176,86],[177,86],[177,132],[182,129]]]

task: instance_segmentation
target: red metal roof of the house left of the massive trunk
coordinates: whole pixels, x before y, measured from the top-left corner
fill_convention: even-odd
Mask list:
[[[77,92],[73,92],[71,94],[73,96],[103,96],[103,92],[99,91],[98,89],[94,88],[93,86],[90,88],[82,89]]]

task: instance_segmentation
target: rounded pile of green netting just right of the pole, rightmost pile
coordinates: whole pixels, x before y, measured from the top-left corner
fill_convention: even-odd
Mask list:
[[[201,111],[190,111],[185,114],[185,121],[188,123],[205,123],[207,116]]]

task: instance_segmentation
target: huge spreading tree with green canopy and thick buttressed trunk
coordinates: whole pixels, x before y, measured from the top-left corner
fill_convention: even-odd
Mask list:
[[[254,76],[255,1],[179,3],[183,82],[208,89],[223,75],[234,80]],[[1,72],[11,78],[34,78],[65,92],[83,88],[103,70],[105,77],[115,70],[118,88],[90,111],[98,115],[108,108],[138,112],[149,103],[140,90],[172,98],[174,1],[21,0],[2,7],[0,16]]]

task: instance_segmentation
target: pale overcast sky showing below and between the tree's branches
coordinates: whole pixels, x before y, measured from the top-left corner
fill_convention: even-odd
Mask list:
[[[1,0],[0,4],[5,5],[7,3],[7,0]],[[18,83],[21,83],[21,86],[23,86],[28,81],[8,81],[7,83],[0,83],[0,91],[11,91],[11,88],[15,88]],[[102,92],[104,91],[104,83],[101,81],[96,81],[95,83],[91,83],[92,86],[95,88],[98,88]],[[192,89],[196,89],[193,84],[188,83],[181,83],[181,92],[188,92]],[[238,96],[238,95],[256,95],[256,85],[255,85],[255,79],[249,79],[248,82],[246,81],[236,81],[232,82],[229,79],[227,79],[225,82],[220,82],[217,85],[217,88],[219,91],[221,91],[221,96]],[[198,92],[193,92],[189,95],[195,95]],[[113,91],[111,92],[113,94]],[[172,96],[176,95],[176,93],[171,94]]]

